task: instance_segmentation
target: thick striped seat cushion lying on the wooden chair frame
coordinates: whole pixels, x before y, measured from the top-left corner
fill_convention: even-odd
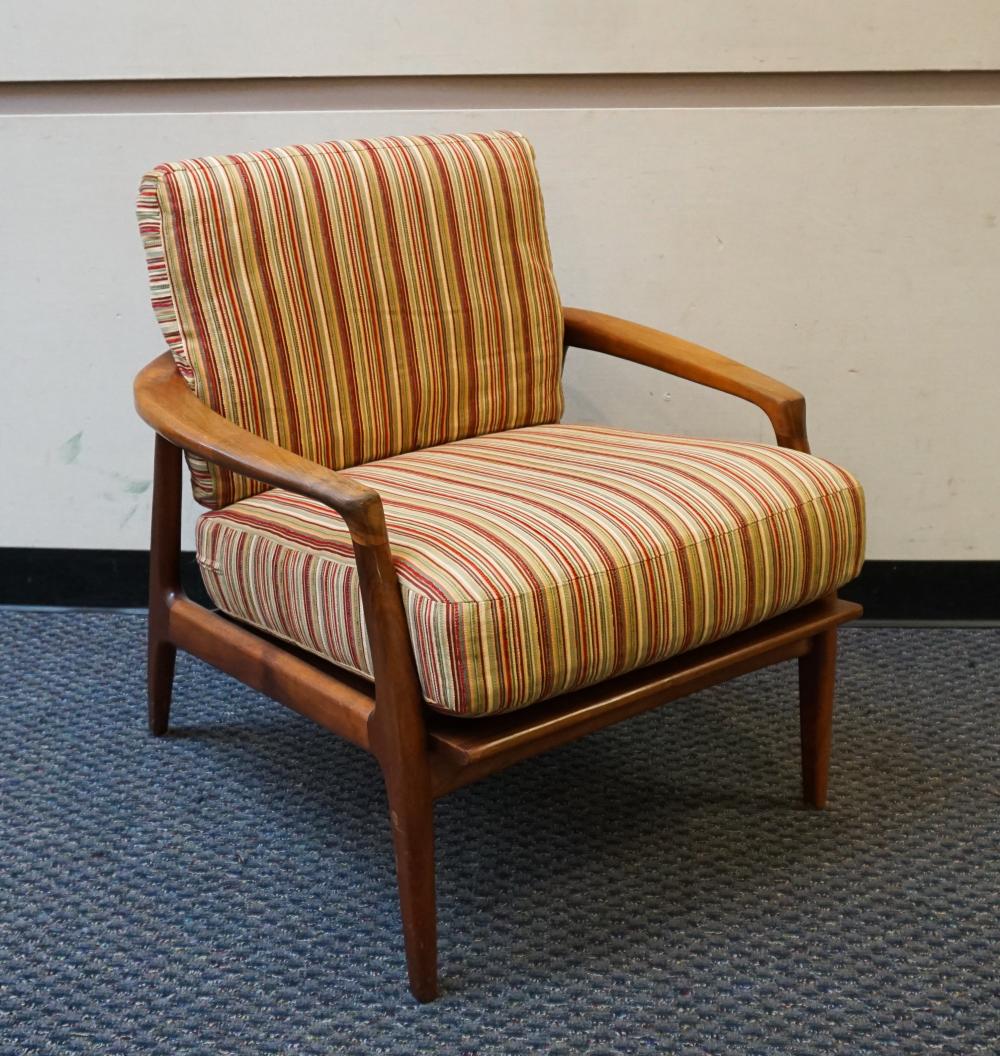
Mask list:
[[[540,426],[348,470],[383,498],[424,698],[523,708],[722,638],[854,577],[864,497],[811,455]],[[206,513],[224,611],[372,671],[351,540],[273,490]]]

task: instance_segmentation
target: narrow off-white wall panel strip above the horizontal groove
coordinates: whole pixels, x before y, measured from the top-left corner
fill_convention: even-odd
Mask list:
[[[996,0],[0,6],[0,80],[998,67]]]

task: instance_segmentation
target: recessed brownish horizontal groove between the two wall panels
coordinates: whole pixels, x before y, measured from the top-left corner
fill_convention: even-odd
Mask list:
[[[996,70],[0,82],[0,113],[5,114],[998,103]]]

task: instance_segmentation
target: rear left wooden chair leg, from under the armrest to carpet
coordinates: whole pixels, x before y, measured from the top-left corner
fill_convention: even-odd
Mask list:
[[[167,732],[177,650],[169,638],[170,603],[181,589],[181,452],[156,437],[153,521],[149,547],[149,729]]]

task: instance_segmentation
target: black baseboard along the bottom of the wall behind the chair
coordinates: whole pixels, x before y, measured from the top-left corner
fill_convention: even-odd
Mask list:
[[[182,561],[185,589],[208,599],[193,553]],[[0,605],[141,608],[145,550],[0,547]],[[869,561],[841,596],[887,623],[1000,622],[1000,561]]]

